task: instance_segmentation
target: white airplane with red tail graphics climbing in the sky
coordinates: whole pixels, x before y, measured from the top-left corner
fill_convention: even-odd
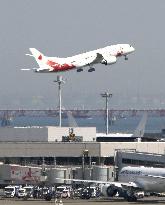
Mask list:
[[[135,51],[130,44],[117,44],[72,57],[59,58],[47,57],[36,48],[29,48],[29,50],[32,54],[26,55],[34,57],[39,68],[21,70],[34,70],[38,73],[63,72],[73,69],[76,69],[77,72],[81,72],[84,67],[89,67],[88,72],[93,72],[95,71],[93,67],[95,64],[101,63],[104,65],[111,65],[116,63],[117,57],[120,56],[124,56],[125,60],[128,60],[128,54]]]

